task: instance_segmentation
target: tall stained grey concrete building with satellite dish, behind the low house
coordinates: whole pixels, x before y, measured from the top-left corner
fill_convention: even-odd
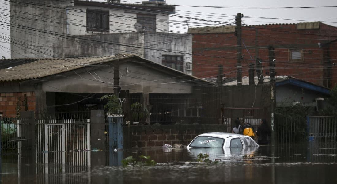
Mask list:
[[[175,5],[150,0],[10,1],[11,58],[133,53],[191,74],[192,38],[169,32]]]

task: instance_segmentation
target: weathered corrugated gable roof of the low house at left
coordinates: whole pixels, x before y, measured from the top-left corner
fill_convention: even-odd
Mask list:
[[[5,68],[0,70],[0,81],[13,81],[13,80],[29,80],[38,79],[42,77],[51,76],[63,72],[68,72],[75,69],[88,67],[91,65],[97,65],[104,62],[121,61],[123,59],[136,58],[141,60],[142,64],[150,65],[155,70],[161,70],[173,75],[179,75],[179,77],[186,79],[187,81],[195,83],[203,83],[212,85],[211,82],[206,80],[187,75],[181,71],[166,67],[164,65],[147,60],[135,54],[117,54],[112,56],[101,57],[78,57],[78,58],[43,58],[34,59],[35,61]],[[17,59],[6,59],[17,60]],[[20,60],[20,59],[19,59]],[[24,60],[24,58],[22,58]],[[26,60],[30,60],[27,58]],[[1,60],[0,60],[1,61]]]

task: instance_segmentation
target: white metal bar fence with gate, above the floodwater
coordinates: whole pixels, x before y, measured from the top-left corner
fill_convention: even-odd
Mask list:
[[[90,165],[90,119],[35,123],[38,163]]]

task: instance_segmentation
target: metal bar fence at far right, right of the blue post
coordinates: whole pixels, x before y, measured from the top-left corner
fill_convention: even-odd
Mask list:
[[[337,140],[336,116],[308,116],[307,126],[310,140],[319,140],[319,141]]]

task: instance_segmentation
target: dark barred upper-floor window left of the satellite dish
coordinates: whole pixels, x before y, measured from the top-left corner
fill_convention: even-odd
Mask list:
[[[109,10],[87,9],[87,31],[109,32]]]

